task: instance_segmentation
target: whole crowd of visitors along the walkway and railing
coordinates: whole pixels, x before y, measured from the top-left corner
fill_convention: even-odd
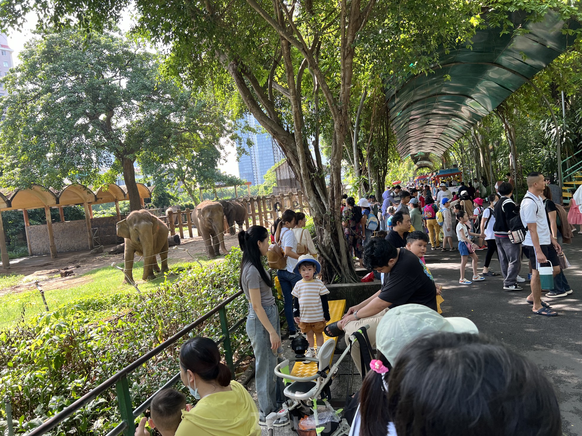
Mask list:
[[[359,343],[352,344],[354,366],[367,375],[350,436],[562,434],[555,392],[535,363],[480,334],[471,320],[439,315],[442,286],[435,284],[425,254],[429,244],[435,250],[442,242],[442,251],[459,252],[460,285],[502,276],[499,285],[510,292],[522,290],[519,283],[525,280],[519,272],[525,260],[531,284],[526,301],[534,314],[556,316],[542,300],[540,267],[549,263],[553,270],[554,286],[546,290],[547,298],[572,292],[562,267],[561,244],[571,241],[573,225],[582,233],[582,187],[566,212],[561,191],[541,173],[528,174],[528,190],[519,205],[510,177],[495,184],[489,195],[476,178],[467,186],[459,184],[459,195],[441,184],[436,192],[424,185],[420,190],[396,185],[386,189],[381,202],[373,195],[357,201],[346,196],[346,242],[359,266],[378,273],[381,281],[374,295],[329,324],[329,291],[318,278],[321,265],[305,228],[306,216],[285,210],[275,223],[273,239],[283,255],[276,277],[289,338],[306,336],[306,358],[317,358],[323,333],[343,335],[349,345],[350,335],[369,326],[367,337],[377,349],[370,371],[362,367]],[[274,377],[283,352],[281,323],[273,279],[262,263],[271,237],[266,228],[251,226],[238,238],[243,251],[239,285],[249,302],[246,331],[255,356],[258,408],[246,389],[230,380],[217,344],[191,338],[180,349],[180,378],[196,406],[179,391],[162,389],[136,436],[148,436],[146,423],[162,436],[258,436],[268,414],[281,409],[283,384]],[[480,274],[478,252],[483,249],[487,252]],[[495,253],[501,274],[491,268]],[[464,276],[469,258],[472,280]],[[286,424],[287,416],[274,422],[275,427]]]

